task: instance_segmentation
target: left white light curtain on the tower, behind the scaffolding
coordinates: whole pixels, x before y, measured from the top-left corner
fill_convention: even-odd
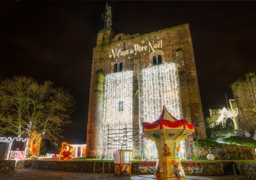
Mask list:
[[[105,75],[104,78],[104,103],[103,103],[103,156],[112,156],[113,148],[121,148],[118,142],[114,140],[123,140],[120,137],[124,134],[125,127],[132,128],[132,85],[133,85],[133,71],[115,72]],[[109,133],[113,138],[109,138],[108,144],[108,127]],[[128,135],[132,135],[128,133]],[[127,142],[126,138],[123,149],[132,147],[132,142]],[[115,145],[116,144],[116,145]],[[108,149],[112,148],[112,149]],[[132,149],[132,148],[129,148]]]

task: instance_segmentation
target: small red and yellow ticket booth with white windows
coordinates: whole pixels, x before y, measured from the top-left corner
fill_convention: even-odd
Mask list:
[[[114,171],[116,175],[129,174],[131,171],[132,151],[128,149],[114,149]]]

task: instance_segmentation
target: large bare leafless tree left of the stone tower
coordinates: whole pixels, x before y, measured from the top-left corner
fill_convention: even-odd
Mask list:
[[[14,76],[0,83],[0,135],[13,133],[31,139],[37,132],[52,144],[62,137],[62,126],[71,123],[74,98],[52,81]],[[32,133],[33,134],[33,133]]]

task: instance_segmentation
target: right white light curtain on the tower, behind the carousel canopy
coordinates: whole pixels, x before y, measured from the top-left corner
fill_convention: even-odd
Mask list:
[[[141,71],[141,121],[154,122],[165,105],[177,119],[182,117],[177,64],[165,63]],[[144,157],[157,157],[155,143],[145,140]]]

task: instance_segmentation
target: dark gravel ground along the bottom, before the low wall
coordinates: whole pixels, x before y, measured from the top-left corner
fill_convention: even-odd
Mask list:
[[[235,175],[223,176],[202,176],[201,180],[236,180]],[[188,176],[192,180],[198,180],[197,176]],[[102,180],[101,173],[95,173],[95,180]],[[148,180],[139,178],[140,180]],[[45,170],[0,170],[0,180],[93,180],[93,173],[87,172],[70,172],[70,171],[45,171]],[[104,174],[103,180],[129,180],[129,176],[108,176]],[[238,180],[245,179],[245,175],[238,175]]]

